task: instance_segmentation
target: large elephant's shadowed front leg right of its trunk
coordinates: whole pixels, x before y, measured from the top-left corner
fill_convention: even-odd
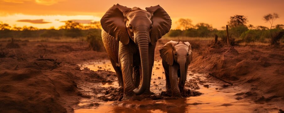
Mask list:
[[[151,85],[151,77],[152,77],[152,69],[153,69],[153,65],[154,65],[154,54],[155,54],[155,47],[156,47],[155,43],[154,45],[149,44],[149,87],[146,89],[145,94],[150,94],[150,85]]]

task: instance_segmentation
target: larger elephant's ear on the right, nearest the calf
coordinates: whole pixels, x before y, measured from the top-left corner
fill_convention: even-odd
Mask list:
[[[148,12],[153,13],[152,17],[152,31],[150,34],[151,44],[154,45],[158,39],[169,32],[172,25],[172,20],[169,14],[160,5],[146,8]]]

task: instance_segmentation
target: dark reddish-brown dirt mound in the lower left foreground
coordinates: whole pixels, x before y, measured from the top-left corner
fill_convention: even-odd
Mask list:
[[[3,61],[4,59],[0,60],[3,62],[0,65],[2,84],[0,86],[0,106],[8,106],[2,107],[0,112],[52,112],[54,110],[67,112],[59,100],[62,93],[58,91],[60,89],[56,85],[60,85],[64,90],[72,89],[69,92],[74,93],[76,84],[62,83],[65,80],[58,83],[59,81],[47,77],[40,68],[28,68],[29,64],[17,67],[13,65],[15,64],[13,62],[13,66],[9,66]],[[13,67],[17,67],[17,69]],[[58,78],[61,77],[57,76],[55,79]],[[69,79],[68,81],[73,80]]]

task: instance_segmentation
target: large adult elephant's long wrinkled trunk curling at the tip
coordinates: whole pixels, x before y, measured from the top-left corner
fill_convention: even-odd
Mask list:
[[[139,37],[141,36],[141,37]],[[138,35],[137,44],[140,52],[141,67],[142,67],[142,84],[140,88],[136,88],[133,92],[136,95],[140,95],[145,92],[149,87],[149,34],[145,33]]]

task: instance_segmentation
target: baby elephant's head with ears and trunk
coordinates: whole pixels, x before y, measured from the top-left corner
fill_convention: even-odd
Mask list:
[[[169,41],[160,49],[160,56],[169,65],[180,65],[180,81],[185,84],[186,66],[192,61],[192,50],[189,42]]]

